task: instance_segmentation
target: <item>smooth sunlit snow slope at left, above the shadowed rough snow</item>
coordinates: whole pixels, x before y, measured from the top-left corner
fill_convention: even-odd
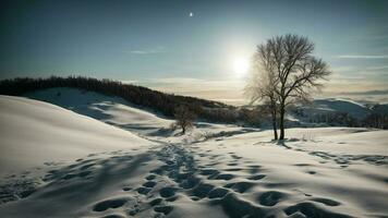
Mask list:
[[[0,96],[0,175],[92,153],[151,145],[88,117],[11,96]]]

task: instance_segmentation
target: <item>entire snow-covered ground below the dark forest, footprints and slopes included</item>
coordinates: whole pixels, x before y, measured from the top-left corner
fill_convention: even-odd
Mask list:
[[[28,97],[65,109],[0,96],[1,217],[388,216],[387,131],[289,129],[277,144],[203,122],[182,136],[120,98]]]

